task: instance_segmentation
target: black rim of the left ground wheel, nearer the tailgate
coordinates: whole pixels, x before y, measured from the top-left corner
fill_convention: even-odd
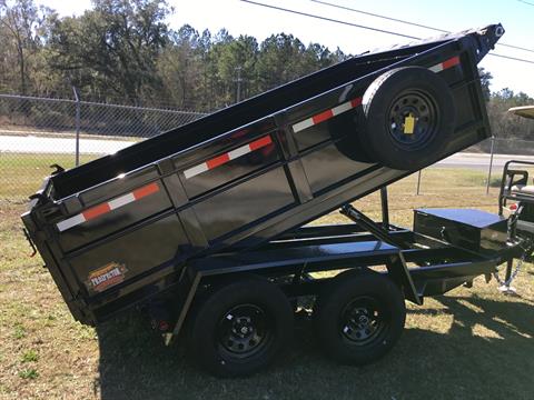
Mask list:
[[[255,304],[239,304],[219,321],[217,346],[227,357],[244,359],[265,349],[273,337],[267,313]]]

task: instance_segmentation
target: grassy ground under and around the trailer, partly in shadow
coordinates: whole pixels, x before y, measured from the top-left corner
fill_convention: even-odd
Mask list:
[[[42,261],[27,257],[20,233],[23,199],[58,159],[26,160],[0,163],[2,173],[21,182],[0,196],[1,399],[532,399],[531,264],[514,282],[520,297],[505,297],[495,281],[476,279],[472,289],[426,299],[423,307],[408,304],[398,344],[385,359],[362,368],[324,357],[303,314],[291,351],[268,371],[237,380],[219,380],[191,367],[184,340],[165,348],[135,310],[98,329],[83,327],[72,320]],[[428,169],[422,194],[415,196],[416,176],[411,176],[389,189],[392,219],[409,227],[416,207],[496,211],[497,190],[485,196],[484,179],[484,171]],[[378,194],[356,206],[379,216]],[[318,222],[345,219],[334,212]]]

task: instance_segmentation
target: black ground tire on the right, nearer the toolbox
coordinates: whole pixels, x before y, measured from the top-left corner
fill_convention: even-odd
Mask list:
[[[385,356],[404,329],[406,308],[387,277],[342,272],[320,293],[314,324],[325,353],[346,364],[367,364]]]

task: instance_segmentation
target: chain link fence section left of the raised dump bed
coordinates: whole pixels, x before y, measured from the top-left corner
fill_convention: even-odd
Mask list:
[[[202,116],[78,99],[0,94],[0,198],[32,193],[53,163],[71,168]]]

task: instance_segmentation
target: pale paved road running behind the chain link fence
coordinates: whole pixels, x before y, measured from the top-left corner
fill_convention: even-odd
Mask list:
[[[111,154],[130,146],[131,141],[108,139],[81,139],[80,152],[82,154]],[[0,132],[0,152],[27,153],[73,153],[76,141],[73,138],[42,138],[37,136],[2,136]],[[501,169],[507,160],[534,161],[533,157],[496,154],[493,166]],[[490,164],[490,154],[456,153],[439,161],[435,167],[486,169]]]

